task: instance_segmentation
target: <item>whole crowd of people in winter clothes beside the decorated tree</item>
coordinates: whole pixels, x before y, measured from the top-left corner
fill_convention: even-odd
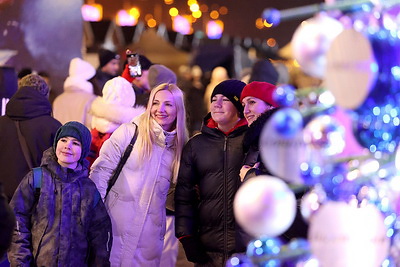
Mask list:
[[[273,64],[243,81],[217,66],[205,83],[198,66],[184,78],[140,55],[134,77],[120,61],[104,49],[97,70],[71,59],[53,102],[43,77],[21,74],[0,117],[0,262],[225,266],[254,238],[233,200],[269,174],[258,138],[279,109]],[[296,229],[285,237],[307,233]]]

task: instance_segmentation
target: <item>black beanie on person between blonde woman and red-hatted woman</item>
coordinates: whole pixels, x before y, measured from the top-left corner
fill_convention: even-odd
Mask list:
[[[239,80],[225,80],[220,82],[217,86],[215,86],[214,91],[211,94],[211,101],[215,95],[221,94],[227,97],[232,104],[239,111],[240,116],[243,116],[243,106],[240,103],[240,94],[242,93],[243,88],[246,84]]]

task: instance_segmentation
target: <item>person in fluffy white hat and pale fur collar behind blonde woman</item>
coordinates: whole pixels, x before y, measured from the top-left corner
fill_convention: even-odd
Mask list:
[[[90,107],[92,114],[92,142],[87,160],[92,166],[98,158],[103,143],[123,123],[133,120],[144,112],[143,107],[133,107],[135,92],[131,84],[122,77],[115,77],[106,82],[103,96],[98,96]]]

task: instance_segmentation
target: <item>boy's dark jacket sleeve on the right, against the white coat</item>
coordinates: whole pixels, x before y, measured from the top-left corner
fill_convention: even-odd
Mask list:
[[[109,259],[112,246],[111,220],[103,201],[98,201],[92,211],[88,232],[89,266],[110,266]]]

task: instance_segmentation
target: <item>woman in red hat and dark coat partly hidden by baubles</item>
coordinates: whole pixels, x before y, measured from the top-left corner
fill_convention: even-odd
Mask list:
[[[273,93],[276,86],[267,82],[251,82],[246,85],[240,96],[244,107],[244,117],[249,129],[243,139],[243,149],[246,157],[240,170],[242,181],[258,175],[272,175],[263,164],[259,152],[261,131],[271,116],[279,110],[279,104],[274,101]],[[271,155],[274,156],[274,155]],[[298,188],[294,193],[298,201],[298,208],[293,224],[281,235],[285,241],[292,238],[307,238],[308,225],[303,220],[300,212],[300,201],[307,188]]]

